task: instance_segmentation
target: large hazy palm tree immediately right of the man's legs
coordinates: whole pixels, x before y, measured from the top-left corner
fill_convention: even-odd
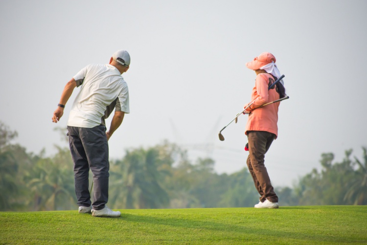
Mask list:
[[[162,186],[173,163],[167,146],[127,150],[122,161],[111,168],[111,202],[120,202],[125,208],[161,208],[169,203]]]

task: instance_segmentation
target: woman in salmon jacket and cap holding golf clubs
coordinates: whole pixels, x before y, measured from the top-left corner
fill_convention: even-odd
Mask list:
[[[247,166],[252,175],[255,187],[260,194],[260,201],[255,208],[278,208],[276,196],[269,174],[264,165],[265,153],[278,135],[278,107],[280,102],[258,108],[263,104],[285,97],[283,81],[279,81],[271,89],[268,88],[280,77],[275,65],[275,57],[263,52],[251,62],[247,68],[255,71],[256,82],[252,89],[252,102],[245,105],[245,113],[249,114],[245,134],[248,136],[249,156]]]

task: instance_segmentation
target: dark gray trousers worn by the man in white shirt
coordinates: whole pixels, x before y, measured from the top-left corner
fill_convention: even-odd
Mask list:
[[[108,201],[110,163],[103,125],[93,128],[68,126],[69,146],[74,162],[75,194],[79,206],[101,210]],[[89,169],[93,173],[93,203],[89,193]]]

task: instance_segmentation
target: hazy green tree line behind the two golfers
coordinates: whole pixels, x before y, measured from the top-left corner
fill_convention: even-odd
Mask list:
[[[0,211],[77,209],[73,163],[68,147],[28,153],[11,144],[17,132],[0,122]],[[366,205],[367,150],[362,161],[345,151],[342,162],[332,153],[321,155],[316,169],[291,187],[275,187],[281,206]],[[218,174],[214,161],[191,162],[184,149],[163,142],[153,147],[126,149],[110,161],[108,205],[114,209],[252,207],[258,194],[247,167]],[[90,174],[92,184],[92,174]]]

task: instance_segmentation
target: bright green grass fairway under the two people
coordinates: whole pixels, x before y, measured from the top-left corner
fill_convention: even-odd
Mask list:
[[[0,212],[0,244],[367,244],[367,206]]]

